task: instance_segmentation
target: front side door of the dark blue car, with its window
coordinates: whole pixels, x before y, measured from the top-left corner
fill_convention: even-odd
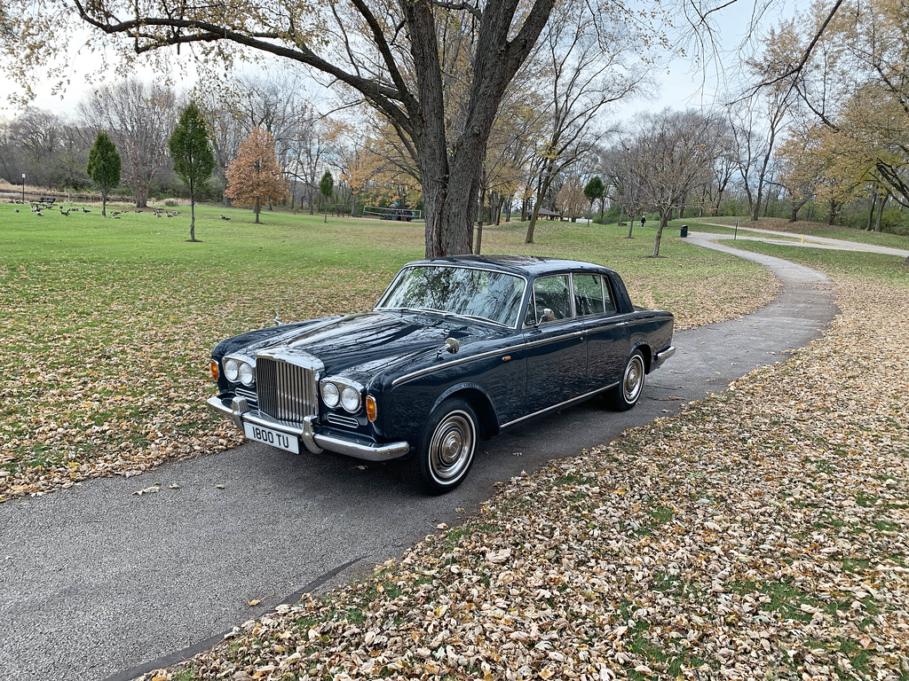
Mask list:
[[[548,409],[584,393],[587,349],[584,322],[574,316],[569,274],[534,280],[524,331],[527,349],[526,413]]]

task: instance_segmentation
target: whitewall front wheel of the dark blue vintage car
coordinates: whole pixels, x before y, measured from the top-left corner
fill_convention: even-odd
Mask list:
[[[445,494],[464,482],[474,463],[476,424],[470,404],[445,400],[426,422],[420,451],[405,461],[405,479],[428,494]]]

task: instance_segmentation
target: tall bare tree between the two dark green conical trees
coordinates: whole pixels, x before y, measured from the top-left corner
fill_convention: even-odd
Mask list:
[[[123,183],[135,205],[148,205],[155,175],[169,164],[167,139],[176,123],[174,91],[131,78],[101,88],[79,105],[85,122],[110,134],[123,158]]]

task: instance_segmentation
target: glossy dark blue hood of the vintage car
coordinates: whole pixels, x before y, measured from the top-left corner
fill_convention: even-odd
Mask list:
[[[321,360],[325,375],[373,378],[393,367],[411,366],[435,357],[454,338],[459,356],[470,353],[473,341],[501,337],[511,332],[489,324],[433,313],[373,311],[326,320],[283,334],[255,350],[281,348],[281,355],[295,354]]]

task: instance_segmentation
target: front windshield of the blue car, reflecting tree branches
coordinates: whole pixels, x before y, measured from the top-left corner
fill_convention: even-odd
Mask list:
[[[436,311],[513,327],[523,300],[524,279],[514,274],[418,266],[401,271],[376,309]]]

